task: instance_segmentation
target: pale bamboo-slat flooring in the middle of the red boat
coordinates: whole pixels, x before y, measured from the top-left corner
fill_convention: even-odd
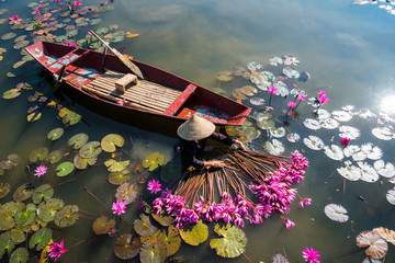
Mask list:
[[[181,91],[146,80],[138,80],[137,84],[132,81],[125,84],[124,93],[119,92],[115,83],[124,76],[124,73],[108,70],[82,89],[109,100],[123,100],[126,104],[156,113],[163,113],[181,94]]]

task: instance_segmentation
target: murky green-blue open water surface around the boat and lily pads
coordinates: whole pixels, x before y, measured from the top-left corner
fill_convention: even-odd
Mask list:
[[[32,18],[31,9],[27,8],[30,2],[1,2],[0,9],[9,11],[1,14],[0,19],[8,19],[14,14]],[[99,3],[83,1],[83,4]],[[315,96],[318,90],[327,92],[330,102],[323,108],[329,112],[340,110],[345,105],[354,105],[353,112],[369,108],[379,114],[381,101],[395,93],[395,16],[380,9],[379,4],[356,5],[352,4],[352,0],[115,0],[109,5],[113,5],[114,10],[99,13],[103,21],[91,28],[117,24],[120,30],[140,34],[138,37],[113,44],[114,47],[126,47],[127,53],[137,60],[163,68],[204,87],[219,87],[226,91],[225,95],[230,98],[233,89],[250,82],[242,79],[219,82],[215,77],[218,71],[230,70],[236,65],[246,66],[249,61],[259,61],[268,70],[280,73],[281,68],[271,67],[268,61],[273,56],[282,55],[297,57],[301,62],[295,68],[300,72],[311,73],[312,78],[307,82],[296,82],[301,89],[306,90],[308,98]],[[84,36],[89,27],[81,27],[77,37]],[[18,35],[31,33],[11,30],[7,22],[1,24],[0,28],[1,35],[8,32],[15,32]],[[29,82],[34,90],[53,99],[54,82],[44,78],[42,67],[36,62],[27,62],[19,70],[12,69],[22,57],[20,50],[13,49],[13,39],[0,41],[0,47],[8,49],[2,54],[3,60],[0,61],[1,93],[14,88],[19,82]],[[9,71],[14,72],[16,77],[8,78],[5,75]],[[61,127],[61,119],[57,117],[55,110],[44,107],[41,119],[34,123],[26,122],[26,111],[34,105],[27,102],[27,96],[32,93],[33,91],[23,91],[16,99],[0,100],[0,159],[5,159],[9,153],[18,153],[22,158],[16,168],[0,178],[0,182],[12,185],[2,204],[12,199],[12,193],[19,185],[27,182],[25,164],[30,163],[29,155],[33,149],[47,147],[50,151],[69,152],[67,140],[77,133],[87,133],[90,140],[101,140],[110,133],[120,134],[125,138],[123,149],[135,160],[142,160],[153,151],[162,152],[167,160],[172,158],[177,138],[162,136],[159,130],[158,134],[147,133],[115,123],[78,104],[75,105],[76,112],[82,115],[83,122],[67,127],[60,139],[50,141],[46,135],[53,128]],[[267,101],[269,99],[267,92],[260,92],[259,96]],[[281,110],[286,108],[286,101],[279,96],[272,99],[274,115],[280,121],[284,118]],[[251,106],[248,100],[244,103]],[[255,106],[255,110],[257,108],[259,107]],[[362,262],[365,255],[356,244],[358,233],[375,227],[395,229],[394,206],[385,197],[394,185],[388,179],[380,176],[375,183],[347,181],[345,186],[343,178],[336,169],[343,167],[346,159],[330,160],[323,150],[314,151],[303,144],[303,138],[315,135],[326,145],[340,145],[339,130],[307,129],[303,121],[313,116],[313,108],[304,103],[298,110],[301,118],[289,119],[287,129],[298,133],[302,139],[296,144],[289,142],[285,137],[279,140],[284,144],[285,153],[300,149],[305,151],[311,160],[306,180],[296,187],[301,196],[313,198],[313,205],[300,209],[297,202],[293,204],[291,213],[286,215],[296,222],[296,227],[291,230],[283,227],[276,215],[261,226],[245,227],[248,237],[246,254],[252,262],[269,262],[272,254],[285,252],[291,262],[302,262],[302,250],[313,247],[321,254],[323,262]],[[383,151],[382,160],[394,163],[394,139],[381,140],[371,133],[375,127],[394,126],[393,121],[379,123],[377,117],[362,118],[354,115],[350,122],[341,124],[360,129],[361,136],[352,140],[352,144],[361,146],[372,142]],[[278,127],[281,125],[281,122],[276,123]],[[263,141],[258,139],[255,144],[262,145]],[[72,160],[72,155],[65,157],[65,160]],[[106,158],[109,156],[101,157],[98,163],[102,163]],[[365,161],[371,165],[374,163],[373,160]],[[111,215],[116,186],[108,182],[104,165],[97,164],[89,170],[77,171],[68,178],[57,178],[55,168],[56,165],[49,167],[44,182],[57,184],[66,179],[76,178],[67,184],[56,186],[56,197],[63,198],[66,204],[78,204],[83,210]],[[138,175],[132,176],[131,182],[136,183]],[[142,190],[145,187],[138,185]],[[83,186],[88,186],[99,196],[109,209],[104,210],[83,191]],[[356,197],[360,195],[377,206],[379,211],[372,213],[372,209],[366,209],[366,205]],[[340,224],[327,218],[324,207],[329,203],[342,205],[348,210],[349,220]],[[137,203],[134,203],[128,206],[122,221],[117,219],[116,227],[121,232],[131,231],[137,215]],[[54,239],[64,239],[66,248],[88,239],[76,252],[69,253],[65,262],[121,262],[113,253],[115,239],[108,236],[94,237],[91,230],[92,220],[91,217],[81,217],[70,228],[54,230]],[[351,220],[353,226],[350,224]],[[211,237],[213,236],[212,233]],[[394,248],[390,244],[385,262],[395,261],[394,253]],[[216,256],[207,241],[196,248],[182,244],[179,254],[192,255],[191,262],[247,262],[242,255],[234,260]],[[2,258],[4,262],[5,258]]]

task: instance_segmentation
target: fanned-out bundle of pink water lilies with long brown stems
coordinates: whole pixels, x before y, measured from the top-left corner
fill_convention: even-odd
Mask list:
[[[225,168],[189,172],[172,185],[173,193],[163,191],[153,203],[155,214],[174,217],[178,228],[201,219],[244,227],[245,220],[262,224],[275,211],[283,215],[290,210],[298,196],[291,186],[304,180],[308,168],[308,160],[297,150],[291,157],[245,150],[227,152],[226,157]],[[301,199],[301,207],[311,204],[309,198]],[[287,229],[294,226],[281,218]]]

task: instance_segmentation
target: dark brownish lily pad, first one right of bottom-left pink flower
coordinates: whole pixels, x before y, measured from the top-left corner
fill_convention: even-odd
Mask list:
[[[129,260],[135,258],[140,249],[140,242],[138,238],[133,238],[132,233],[122,235],[115,243],[114,253],[121,260]]]

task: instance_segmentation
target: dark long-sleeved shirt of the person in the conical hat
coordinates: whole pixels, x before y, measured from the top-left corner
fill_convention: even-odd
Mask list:
[[[207,139],[214,139],[222,141],[228,146],[233,145],[235,140],[226,135],[219,133],[213,133],[207,138],[201,140],[180,140],[180,151],[182,162],[188,167],[192,165],[195,169],[202,169],[204,167],[204,161],[202,160],[204,148]]]

